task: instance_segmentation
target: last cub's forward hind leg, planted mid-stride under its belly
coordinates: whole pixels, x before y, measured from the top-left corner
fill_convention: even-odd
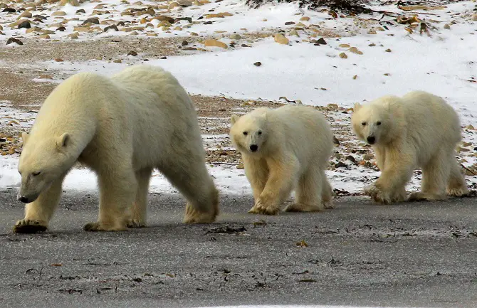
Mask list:
[[[447,157],[445,152],[439,152],[422,168],[421,191],[411,193],[409,201],[433,201],[446,198],[446,186],[451,173]]]

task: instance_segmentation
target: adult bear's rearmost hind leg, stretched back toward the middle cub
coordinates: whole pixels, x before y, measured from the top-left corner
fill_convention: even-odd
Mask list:
[[[203,157],[192,152],[186,157],[187,164],[176,159],[158,169],[187,200],[184,223],[213,223],[219,215],[219,191]]]

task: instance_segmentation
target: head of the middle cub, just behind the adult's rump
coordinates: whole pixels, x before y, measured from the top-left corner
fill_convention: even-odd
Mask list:
[[[230,136],[241,153],[260,155],[267,139],[267,108],[258,108],[246,115],[231,116]]]

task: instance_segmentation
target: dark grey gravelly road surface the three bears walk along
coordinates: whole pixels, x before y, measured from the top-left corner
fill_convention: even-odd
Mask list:
[[[477,307],[475,198],[271,217],[222,196],[217,223],[184,225],[184,201],[157,194],[149,228],[86,233],[98,198],[66,193],[47,233],[16,235],[15,193],[0,191],[0,307]]]

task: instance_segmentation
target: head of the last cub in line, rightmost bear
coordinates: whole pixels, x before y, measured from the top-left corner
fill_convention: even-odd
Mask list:
[[[356,103],[351,116],[352,129],[367,144],[391,142],[396,132],[391,102],[388,97],[366,105]]]

